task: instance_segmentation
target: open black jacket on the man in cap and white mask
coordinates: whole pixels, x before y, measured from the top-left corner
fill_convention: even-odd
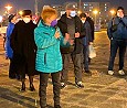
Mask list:
[[[63,36],[65,36],[65,33],[68,33],[67,32],[67,23],[66,23],[66,13],[63,14],[61,17],[61,19],[59,20],[57,22],[57,26],[60,28]],[[83,23],[81,21],[81,19],[76,15],[74,17],[74,20],[75,20],[75,33],[80,33],[80,37],[75,37],[74,42],[74,51],[73,53],[75,54],[80,54],[82,52],[82,48],[83,48],[83,41],[82,41],[82,37],[85,36],[85,30],[84,30],[84,26],[83,26]],[[71,53],[70,52],[70,47],[61,47],[61,53]]]

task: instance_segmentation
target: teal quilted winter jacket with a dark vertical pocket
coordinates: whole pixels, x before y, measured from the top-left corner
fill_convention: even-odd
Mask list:
[[[41,20],[34,30],[34,41],[38,46],[35,68],[42,73],[56,73],[62,71],[62,55],[60,45],[70,45],[64,43],[61,34],[60,39],[55,39],[55,28],[45,25]]]

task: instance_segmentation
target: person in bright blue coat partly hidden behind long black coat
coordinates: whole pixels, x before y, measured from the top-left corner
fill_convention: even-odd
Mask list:
[[[10,46],[10,36],[11,36],[11,33],[14,29],[14,24],[17,22],[17,15],[15,14],[10,14],[9,15],[9,24],[8,24],[8,28],[7,28],[7,36],[6,36],[6,58],[10,60],[10,65],[9,65],[9,78],[18,78],[20,79],[20,76],[18,75],[18,72],[17,72],[17,66],[14,64],[14,61],[13,61],[13,51]]]

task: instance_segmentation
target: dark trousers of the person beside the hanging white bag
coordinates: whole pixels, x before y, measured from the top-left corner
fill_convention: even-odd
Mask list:
[[[83,50],[83,64],[84,64],[84,69],[85,71],[89,71],[88,68],[88,45],[84,45],[84,50]]]

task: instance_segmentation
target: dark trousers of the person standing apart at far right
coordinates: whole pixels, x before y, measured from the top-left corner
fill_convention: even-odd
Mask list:
[[[124,67],[124,56],[126,52],[126,41],[124,40],[112,40],[110,41],[110,57],[109,57],[109,65],[108,71],[113,71],[114,68],[114,61],[119,50],[119,69]]]

